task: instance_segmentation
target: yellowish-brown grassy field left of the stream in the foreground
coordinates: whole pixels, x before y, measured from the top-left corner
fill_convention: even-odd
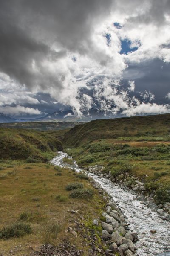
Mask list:
[[[74,220],[80,215],[85,218],[82,220],[85,225],[100,217],[103,202],[95,191],[92,199],[70,198],[71,191],[65,187],[73,182],[94,190],[88,180],[79,179],[68,169],[54,169],[44,163],[26,164],[21,160],[1,163],[0,236],[4,227],[12,228],[16,222],[29,226],[31,233],[0,239],[0,254],[7,256],[12,250],[17,256],[29,255],[31,247],[37,250],[41,244],[57,245],[65,238],[88,256],[89,248],[82,234],[76,231],[75,239],[74,234],[65,233],[65,230],[68,227],[74,230]],[[72,214],[71,210],[78,212]]]

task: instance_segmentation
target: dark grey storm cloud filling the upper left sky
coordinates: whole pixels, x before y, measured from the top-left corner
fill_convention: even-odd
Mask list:
[[[28,87],[59,86],[57,76],[48,74],[42,62],[56,61],[68,49],[87,52],[91,24],[107,15],[111,4],[112,0],[1,0],[0,70]],[[58,52],[51,48],[56,41],[62,46]]]

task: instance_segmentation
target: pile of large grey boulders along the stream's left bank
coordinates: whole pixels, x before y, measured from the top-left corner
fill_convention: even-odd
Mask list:
[[[94,183],[93,186],[101,195],[105,192],[98,183]],[[107,200],[107,204],[105,212],[102,212],[105,221],[101,222],[103,228],[101,238],[109,247],[105,254],[115,256],[115,253],[119,253],[120,256],[133,256],[137,250],[133,242],[139,240],[137,233],[129,230],[127,217],[121,212],[113,198],[110,195],[103,195],[103,199]],[[95,219],[93,224],[98,225],[99,220]]]

